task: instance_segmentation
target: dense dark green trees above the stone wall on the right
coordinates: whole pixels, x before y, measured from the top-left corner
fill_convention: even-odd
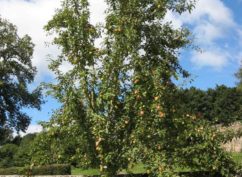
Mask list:
[[[212,124],[229,125],[242,118],[242,92],[224,85],[203,91],[196,88],[180,90],[179,109],[204,118]]]

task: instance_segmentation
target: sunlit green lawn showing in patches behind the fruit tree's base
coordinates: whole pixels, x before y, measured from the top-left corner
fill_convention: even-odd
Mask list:
[[[232,157],[234,159],[234,161],[239,164],[242,165],[242,153],[241,152],[233,152]],[[181,170],[179,169],[179,171],[187,171],[187,170]],[[127,171],[122,171],[121,173],[132,173],[132,174],[138,174],[138,173],[145,173],[146,170],[144,168],[143,164],[137,164],[134,167],[132,167],[131,169],[127,170]],[[99,169],[80,169],[80,168],[73,168],[72,169],[72,175],[100,175]]]

